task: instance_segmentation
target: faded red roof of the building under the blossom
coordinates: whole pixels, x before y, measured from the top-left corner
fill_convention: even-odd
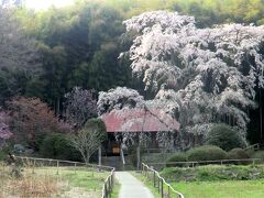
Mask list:
[[[128,109],[111,111],[101,116],[107,132],[157,132],[179,130],[179,123],[162,111],[144,111],[143,109]],[[144,122],[144,124],[143,124]]]

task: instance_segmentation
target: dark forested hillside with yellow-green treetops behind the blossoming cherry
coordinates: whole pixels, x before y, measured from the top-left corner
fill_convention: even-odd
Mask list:
[[[0,56],[0,105],[7,107],[15,96],[36,97],[62,116],[65,95],[76,86],[94,89],[96,97],[117,86],[152,97],[142,80],[132,77],[129,57],[119,56],[129,51],[135,36],[125,32],[122,22],[154,10],[195,16],[200,29],[223,23],[264,24],[263,0],[77,0],[72,7],[44,11],[29,10],[23,3],[0,8],[0,35],[18,34],[13,63]],[[264,54],[264,47],[261,51]],[[0,53],[10,55],[6,45],[0,45]],[[258,87],[255,91],[258,106],[249,111],[251,142],[264,140],[264,91]]]

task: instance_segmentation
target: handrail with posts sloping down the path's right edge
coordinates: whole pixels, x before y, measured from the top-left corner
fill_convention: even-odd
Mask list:
[[[170,198],[170,191],[173,191],[174,194],[176,194],[178,198],[184,198],[184,195],[183,195],[182,193],[175,190],[168,183],[166,183],[166,180],[160,175],[160,173],[158,173],[157,170],[155,170],[154,168],[152,168],[152,167],[147,166],[146,164],[142,163],[142,170],[144,172],[145,168],[146,168],[147,170],[153,172],[153,175],[154,175],[154,177],[153,177],[153,178],[154,178],[154,187],[156,187],[155,176],[157,176],[157,178],[158,178],[160,180],[162,180],[162,185],[161,185],[161,186],[160,186],[160,180],[158,180],[158,193],[162,195],[162,198],[165,197],[164,189],[163,189],[163,185],[166,185],[166,186],[167,186],[168,193],[167,193],[166,196],[167,196],[168,198]],[[160,189],[160,187],[161,187],[161,189]]]

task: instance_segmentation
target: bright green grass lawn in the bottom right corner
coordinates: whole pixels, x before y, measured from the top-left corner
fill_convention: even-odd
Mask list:
[[[264,179],[173,183],[185,198],[263,198]]]

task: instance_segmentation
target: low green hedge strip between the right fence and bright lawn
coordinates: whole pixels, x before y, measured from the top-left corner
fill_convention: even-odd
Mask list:
[[[161,172],[166,180],[173,182],[213,182],[263,179],[263,165],[207,165],[194,168],[167,167]]]

